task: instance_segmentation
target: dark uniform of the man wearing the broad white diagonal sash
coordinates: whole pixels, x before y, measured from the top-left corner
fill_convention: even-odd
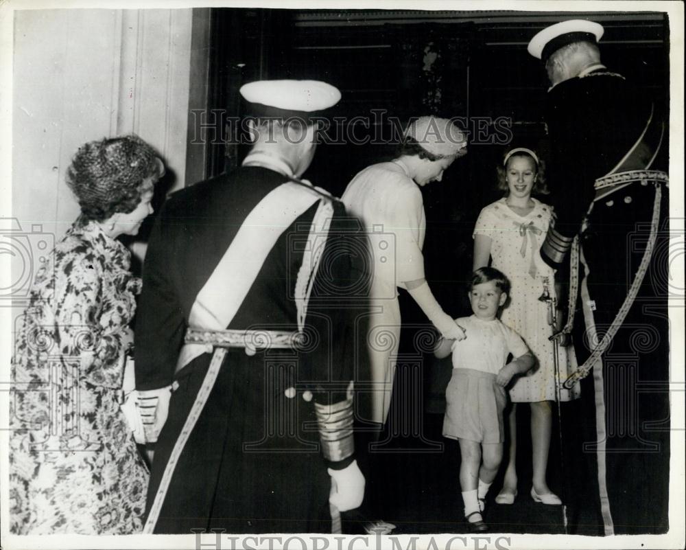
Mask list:
[[[193,302],[259,201],[289,178],[242,167],[177,192],[156,220],[143,268],[136,327],[140,391],[174,383],[169,417],[156,444],[148,511],[182,426],[208,370],[212,347],[176,371]],[[298,330],[294,286],[315,211],[333,207],[326,246],[298,349],[227,350],[215,385],[165,490],[156,533],[331,532],[327,466],[353,460],[352,434],[322,455],[316,406],[349,400],[352,380],[344,308],[350,255],[342,203],[307,184],[314,197],[269,251],[228,329]],[[249,260],[246,257],[246,260]],[[232,281],[226,280],[230,293]],[[331,439],[331,433],[329,433]]]

